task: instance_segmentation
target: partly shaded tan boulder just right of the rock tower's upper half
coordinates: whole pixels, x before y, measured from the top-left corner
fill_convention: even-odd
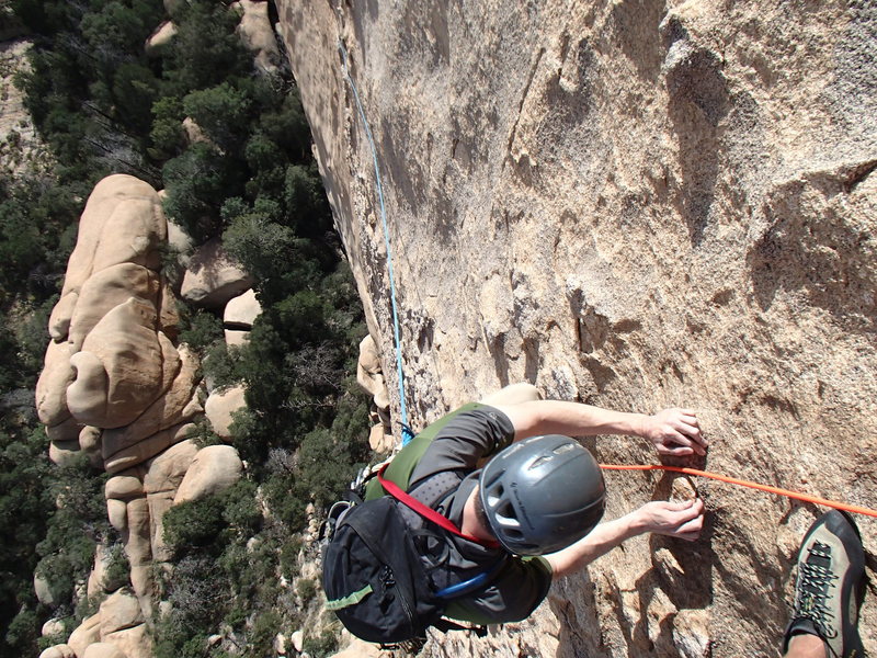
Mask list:
[[[223,308],[252,284],[250,275],[214,239],[198,247],[189,260],[180,295],[198,306]]]

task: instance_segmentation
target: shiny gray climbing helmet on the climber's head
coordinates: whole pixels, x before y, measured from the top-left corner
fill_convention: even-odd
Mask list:
[[[588,450],[569,436],[525,439],[481,470],[481,504],[500,544],[517,555],[560,551],[600,522],[603,473]]]

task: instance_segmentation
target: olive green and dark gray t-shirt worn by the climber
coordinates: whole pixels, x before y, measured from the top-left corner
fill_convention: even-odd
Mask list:
[[[466,500],[478,485],[479,460],[501,451],[513,439],[514,427],[504,413],[487,405],[469,404],[412,439],[394,458],[385,476],[402,487],[407,485],[417,497],[417,490],[429,487],[430,478],[440,474],[443,488],[447,488],[448,474],[453,474],[457,487],[435,510],[459,527]],[[366,498],[381,494],[378,484]],[[449,543],[446,565],[459,570],[488,569],[504,553],[502,548],[488,548],[456,535],[449,536]],[[512,556],[488,587],[452,600],[445,615],[477,624],[521,621],[547,595],[551,575],[551,567],[543,557]]]

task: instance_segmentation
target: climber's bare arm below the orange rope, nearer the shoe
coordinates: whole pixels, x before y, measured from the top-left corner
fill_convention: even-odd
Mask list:
[[[647,502],[638,510],[614,521],[601,523],[586,536],[562,551],[545,555],[555,577],[567,576],[584,568],[601,555],[645,532],[694,541],[704,524],[704,501]]]

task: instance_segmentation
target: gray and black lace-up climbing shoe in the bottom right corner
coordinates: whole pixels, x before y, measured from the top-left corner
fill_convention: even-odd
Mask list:
[[[865,586],[865,552],[852,518],[838,510],[810,526],[798,553],[795,608],[783,653],[795,635],[816,635],[836,658],[864,656],[858,606]]]

